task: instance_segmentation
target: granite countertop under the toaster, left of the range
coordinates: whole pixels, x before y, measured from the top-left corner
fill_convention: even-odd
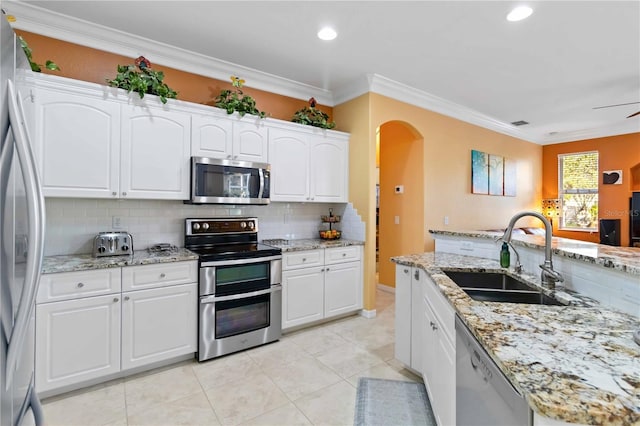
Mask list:
[[[117,268],[131,265],[151,265],[154,263],[182,262],[198,260],[198,255],[185,248],[165,252],[134,251],[132,256],[93,257],[90,254],[45,256],[42,262],[43,274],[58,272],[87,271],[90,269]]]

